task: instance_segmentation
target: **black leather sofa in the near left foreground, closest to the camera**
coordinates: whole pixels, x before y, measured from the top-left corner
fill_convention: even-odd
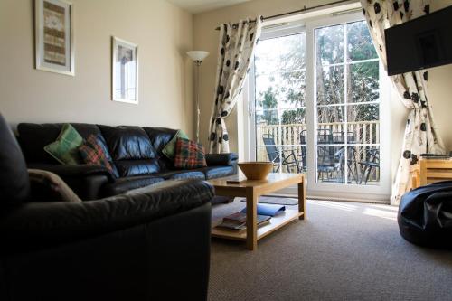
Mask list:
[[[0,141],[0,300],[207,298],[209,183],[165,181],[96,201],[44,202],[1,115]]]

